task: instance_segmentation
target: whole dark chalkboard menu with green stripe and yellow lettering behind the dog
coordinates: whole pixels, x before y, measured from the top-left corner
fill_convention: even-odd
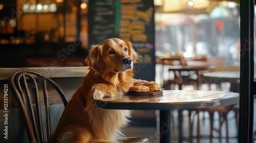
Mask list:
[[[131,41],[140,54],[135,78],[155,81],[153,0],[105,0],[89,3],[89,44],[108,38]]]

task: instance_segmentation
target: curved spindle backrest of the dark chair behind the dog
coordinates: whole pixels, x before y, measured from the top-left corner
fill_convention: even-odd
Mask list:
[[[38,81],[39,84],[38,84]],[[18,68],[9,76],[9,84],[19,108],[23,114],[25,127],[28,134],[29,142],[46,142],[44,130],[46,128],[47,139],[51,138],[51,122],[49,114],[49,101],[47,84],[49,83],[58,92],[64,106],[68,104],[68,100],[60,87],[50,78],[38,73],[29,68]],[[42,93],[38,89],[42,86]],[[40,87],[40,88],[39,88]],[[42,95],[41,95],[42,94]],[[44,98],[45,115],[41,114],[39,98]],[[35,99],[35,101],[33,101]],[[36,113],[33,106],[36,106]],[[36,115],[36,116],[35,116]],[[44,116],[44,117],[43,117]],[[43,120],[46,122],[46,127],[43,126]]]

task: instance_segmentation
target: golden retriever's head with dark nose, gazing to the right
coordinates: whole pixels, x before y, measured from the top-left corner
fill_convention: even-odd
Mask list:
[[[120,73],[133,69],[138,57],[130,41],[112,38],[93,45],[85,61],[96,73]]]

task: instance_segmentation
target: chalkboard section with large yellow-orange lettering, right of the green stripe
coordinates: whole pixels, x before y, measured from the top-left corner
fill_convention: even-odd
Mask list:
[[[153,0],[121,0],[119,38],[133,43],[140,54],[135,78],[155,81],[155,22]]]

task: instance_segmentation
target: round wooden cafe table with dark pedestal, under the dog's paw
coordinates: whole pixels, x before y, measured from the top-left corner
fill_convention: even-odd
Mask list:
[[[157,96],[124,96],[103,98],[95,105],[104,109],[160,110],[160,142],[171,142],[171,110],[195,109],[233,105],[239,102],[239,93],[229,91],[163,90]]]

